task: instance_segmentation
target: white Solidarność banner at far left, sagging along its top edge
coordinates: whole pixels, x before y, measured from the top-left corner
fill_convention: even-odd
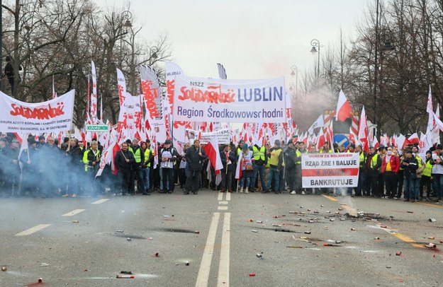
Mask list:
[[[74,111],[74,90],[46,102],[21,102],[0,92],[0,131],[46,133],[69,131]]]

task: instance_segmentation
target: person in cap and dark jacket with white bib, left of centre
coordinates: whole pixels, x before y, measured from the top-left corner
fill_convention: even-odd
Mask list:
[[[160,193],[174,192],[174,164],[179,153],[171,146],[171,140],[164,141],[163,148],[159,152],[159,163],[162,168],[162,189]]]

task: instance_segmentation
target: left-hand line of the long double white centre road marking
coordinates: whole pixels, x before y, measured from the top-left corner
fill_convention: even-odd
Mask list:
[[[211,221],[211,226],[208,231],[208,239],[206,240],[205,250],[201,257],[200,269],[198,270],[198,277],[196,287],[208,286],[209,271],[211,269],[211,262],[214,252],[215,235],[217,234],[218,219],[220,213],[215,212]]]

